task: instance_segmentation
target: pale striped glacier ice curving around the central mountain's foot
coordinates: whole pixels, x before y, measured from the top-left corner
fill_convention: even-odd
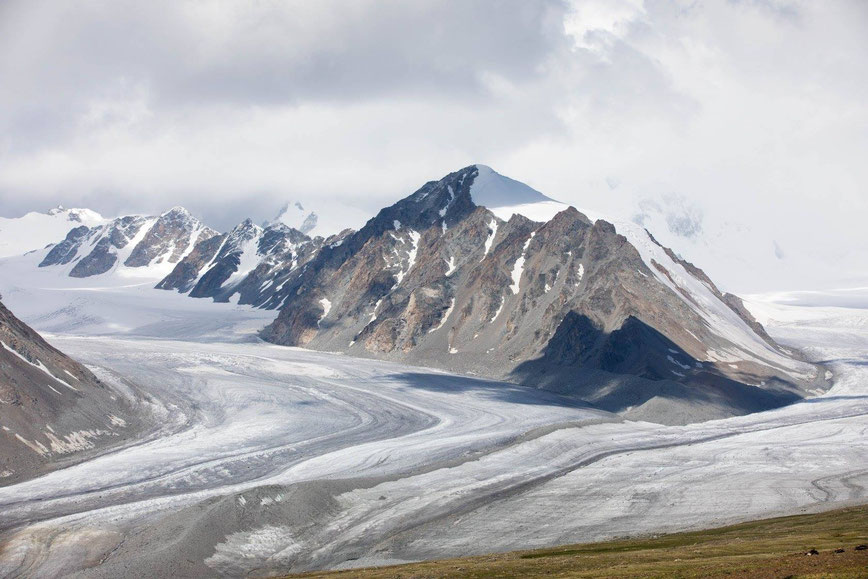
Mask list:
[[[868,500],[868,310],[755,300],[777,339],[829,364],[832,390],[666,427],[510,384],[265,344],[255,332],[274,312],[145,284],[10,279],[7,305],[105,382],[147,392],[159,428],[0,487],[0,576],[353,567]]]

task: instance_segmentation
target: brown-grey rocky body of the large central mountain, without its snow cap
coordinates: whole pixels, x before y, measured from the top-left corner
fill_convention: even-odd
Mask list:
[[[265,304],[282,308],[263,337],[600,404],[604,393],[607,409],[662,422],[781,405],[821,385],[698,268],[668,251],[646,263],[612,224],[573,208],[503,221],[474,205],[475,176],[427,183],[324,244]]]

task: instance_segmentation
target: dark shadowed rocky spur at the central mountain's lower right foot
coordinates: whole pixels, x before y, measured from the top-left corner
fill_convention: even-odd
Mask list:
[[[634,316],[606,331],[576,311],[564,316],[542,355],[519,364],[512,377],[570,392],[631,419],[667,424],[768,410],[798,399],[780,380],[760,389],[716,372]]]

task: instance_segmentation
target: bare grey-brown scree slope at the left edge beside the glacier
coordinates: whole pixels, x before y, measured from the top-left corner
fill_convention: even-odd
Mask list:
[[[0,303],[0,485],[133,436],[132,403]]]

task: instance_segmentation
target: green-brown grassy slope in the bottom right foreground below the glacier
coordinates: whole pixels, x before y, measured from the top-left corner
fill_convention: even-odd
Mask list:
[[[302,577],[868,577],[868,506],[719,529]],[[843,552],[835,552],[843,549]],[[818,554],[808,554],[816,550]]]

